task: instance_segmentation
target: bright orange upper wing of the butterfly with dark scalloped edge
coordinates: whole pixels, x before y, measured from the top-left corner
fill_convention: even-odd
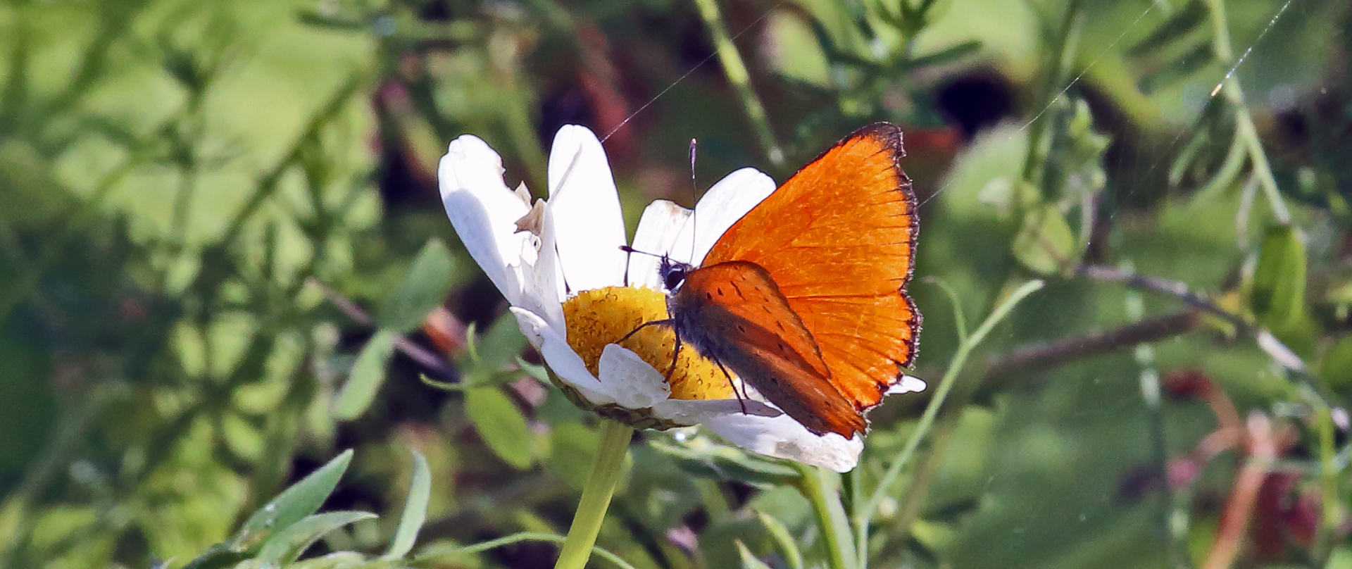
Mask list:
[[[915,358],[921,315],[906,284],[918,224],[902,155],[900,128],[860,128],[734,223],[699,269],[764,268],[856,411],[882,401]]]

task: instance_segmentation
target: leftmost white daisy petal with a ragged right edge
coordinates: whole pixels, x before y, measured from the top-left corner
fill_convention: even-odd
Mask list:
[[[508,303],[521,296],[518,266],[534,254],[535,237],[516,232],[529,207],[503,182],[502,158],[475,135],[450,142],[437,169],[441,201],[469,255],[484,269]]]

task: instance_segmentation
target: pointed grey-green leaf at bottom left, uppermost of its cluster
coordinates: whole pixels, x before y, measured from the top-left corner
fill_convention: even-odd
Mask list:
[[[338,480],[342,478],[349,464],[352,464],[352,449],[292,484],[291,488],[281,491],[277,497],[249,516],[245,526],[231,539],[230,549],[234,551],[253,549],[268,537],[314,514],[338,487]]]

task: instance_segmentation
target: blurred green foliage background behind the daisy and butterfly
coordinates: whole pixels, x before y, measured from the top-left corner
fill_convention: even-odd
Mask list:
[[[1048,285],[957,376],[871,566],[1352,566],[1349,18],[5,0],[0,565],[183,566],[345,449],[323,508],[380,519],[307,555],[379,553],[411,447],[431,493],[403,564],[552,566],[553,543],[457,549],[565,533],[596,427],[452,231],[448,142],[484,138],[542,196],[554,131],[589,126],[633,231],[653,199],[694,203],[691,138],[707,188],[741,166],[783,181],[888,120],[922,204],[915,373],[933,387],[964,324]],[[846,491],[932,393],[873,411]],[[783,469],[688,441],[639,432],[599,546],[635,568],[825,566]]]

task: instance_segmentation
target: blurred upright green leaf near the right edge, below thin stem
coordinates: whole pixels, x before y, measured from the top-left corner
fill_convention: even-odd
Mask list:
[[[1305,316],[1305,241],[1294,227],[1270,227],[1253,269],[1251,308],[1274,331],[1299,324]]]

